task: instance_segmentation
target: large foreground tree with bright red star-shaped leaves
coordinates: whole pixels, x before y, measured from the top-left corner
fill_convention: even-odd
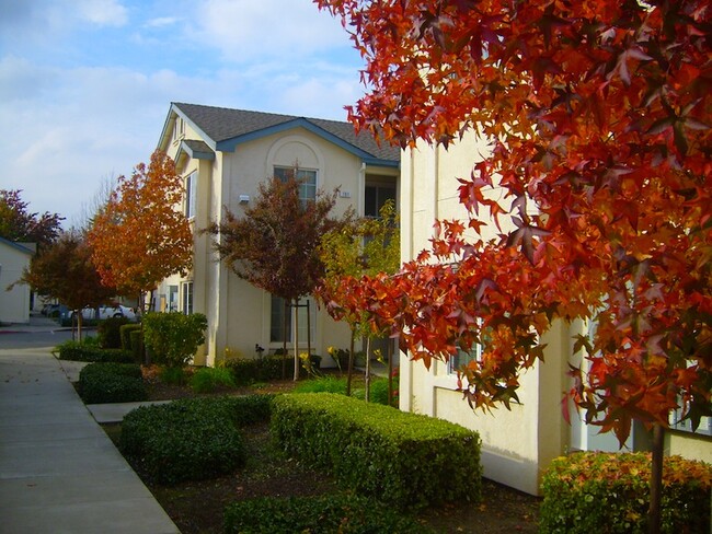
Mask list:
[[[402,147],[468,130],[492,146],[460,178],[470,220],[441,221],[432,253],[377,280],[379,310],[426,364],[486,330],[466,370],[478,407],[516,398],[552,321],[594,322],[570,395],[621,443],[633,419],[653,428],[657,532],[668,415],[697,428],[712,414],[709,2],[318,3],[367,61],[358,128]],[[495,186],[509,206],[486,195]],[[514,230],[478,239],[486,212]]]

